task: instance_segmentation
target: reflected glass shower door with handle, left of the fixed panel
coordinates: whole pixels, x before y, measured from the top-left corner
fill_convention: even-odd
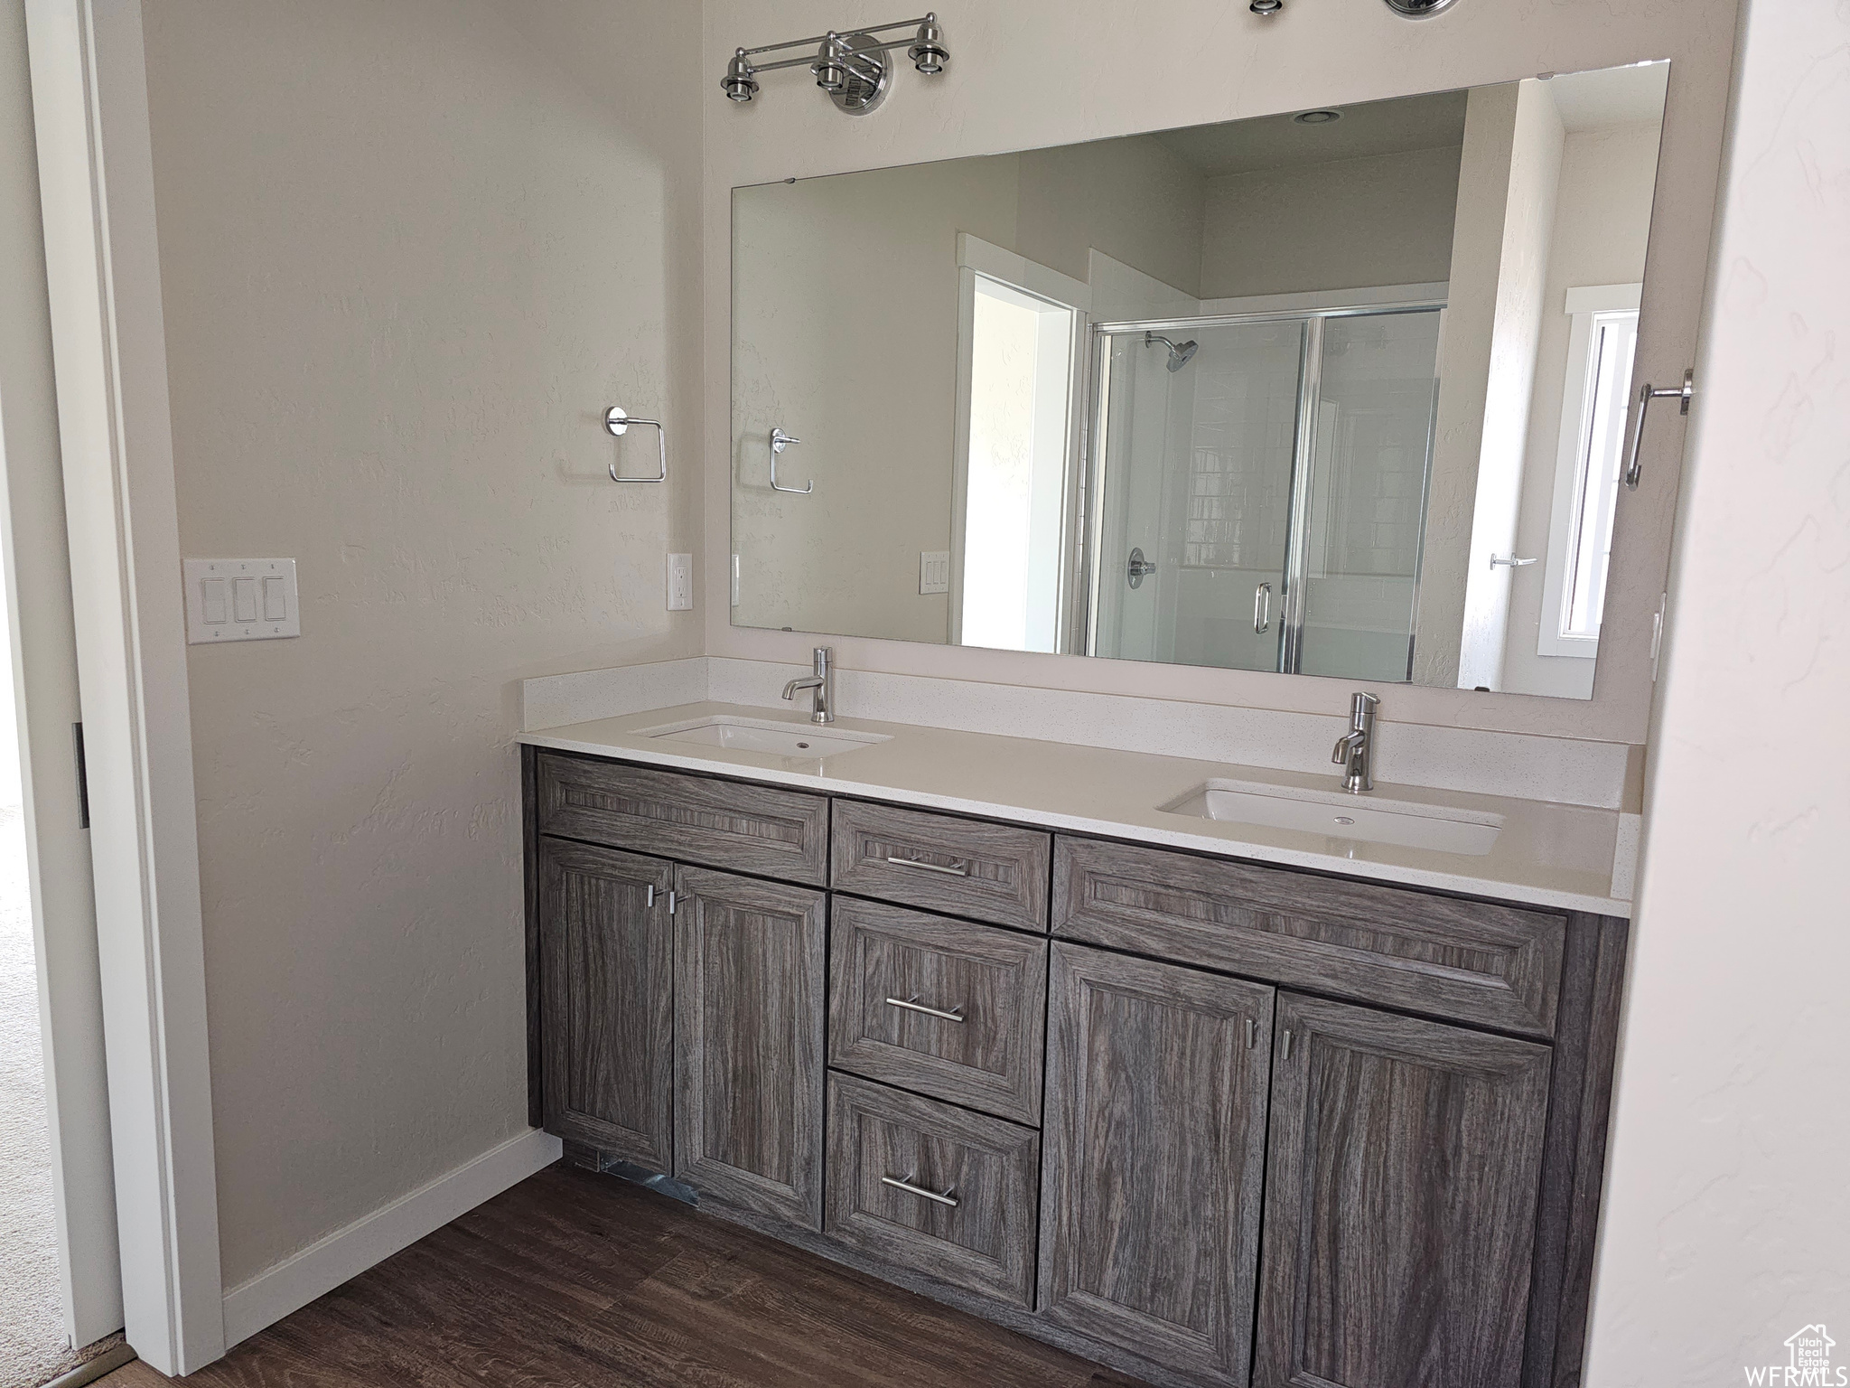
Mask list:
[[[1093,655],[1280,668],[1304,344],[1302,320],[1099,329]]]

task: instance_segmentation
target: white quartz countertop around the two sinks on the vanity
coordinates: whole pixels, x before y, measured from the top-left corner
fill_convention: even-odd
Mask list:
[[[642,737],[644,729],[716,714],[788,724],[792,729],[810,729],[825,737],[836,731],[882,733],[890,740],[838,753],[827,761],[808,761]],[[536,748],[716,772],[801,790],[866,796],[899,805],[982,814],[1500,901],[1591,911],[1602,916],[1632,914],[1632,903],[1613,896],[1613,853],[1621,840],[1617,811],[1376,783],[1375,796],[1380,799],[1502,816],[1502,833],[1491,851],[1473,857],[1365,844],[1297,829],[1201,820],[1158,809],[1212,779],[1336,790],[1339,788],[1336,766],[1330,768],[1330,775],[1319,777],[862,718],[840,718],[820,729],[803,714],[733,703],[683,703],[622,718],[520,733],[518,740]],[[1367,799],[1363,796],[1358,803],[1365,805]],[[1630,864],[1621,864],[1621,870],[1628,881]]]

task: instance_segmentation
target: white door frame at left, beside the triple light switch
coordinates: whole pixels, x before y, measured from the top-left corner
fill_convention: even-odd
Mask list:
[[[26,0],[87,753],[122,1314],[224,1355],[179,513],[141,0]]]

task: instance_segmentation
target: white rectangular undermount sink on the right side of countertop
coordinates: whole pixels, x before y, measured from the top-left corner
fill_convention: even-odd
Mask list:
[[[1254,781],[1208,781],[1158,809],[1197,820],[1299,829],[1350,842],[1430,848],[1467,857],[1489,853],[1502,831],[1500,814]]]

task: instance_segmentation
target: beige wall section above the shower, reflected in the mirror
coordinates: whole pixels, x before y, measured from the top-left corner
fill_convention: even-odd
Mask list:
[[[1408,150],[1210,180],[1201,296],[1445,279],[1458,155]]]

